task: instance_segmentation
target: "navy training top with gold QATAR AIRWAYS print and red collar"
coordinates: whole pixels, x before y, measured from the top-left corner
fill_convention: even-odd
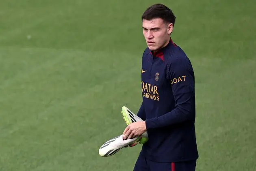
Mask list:
[[[145,120],[149,137],[143,156],[156,162],[197,159],[194,72],[171,39],[157,53],[145,49],[141,90],[143,103],[137,115]]]

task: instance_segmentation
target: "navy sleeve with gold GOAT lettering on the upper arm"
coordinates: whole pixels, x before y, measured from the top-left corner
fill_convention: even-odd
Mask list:
[[[175,108],[159,117],[147,119],[147,129],[170,126],[195,118],[195,79],[190,61],[187,58],[177,58],[167,65],[167,73]]]

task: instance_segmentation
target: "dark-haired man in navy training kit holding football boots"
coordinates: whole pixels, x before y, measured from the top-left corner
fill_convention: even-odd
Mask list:
[[[170,38],[175,19],[163,4],[150,6],[142,15],[148,47],[137,115],[143,121],[129,124],[123,133],[131,139],[148,132],[134,171],[195,171],[195,78],[190,60]]]

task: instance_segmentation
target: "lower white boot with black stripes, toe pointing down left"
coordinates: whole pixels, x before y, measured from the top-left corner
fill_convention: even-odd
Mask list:
[[[110,139],[104,143],[100,149],[99,154],[102,157],[108,157],[116,154],[123,147],[128,147],[135,142],[138,142],[140,137],[135,137],[133,139],[123,139],[123,135],[119,135],[113,139]]]

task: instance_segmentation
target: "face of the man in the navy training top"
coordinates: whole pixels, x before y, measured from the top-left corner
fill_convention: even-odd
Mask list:
[[[143,19],[142,28],[148,48],[157,51],[169,43],[173,24],[166,24],[161,18]]]

